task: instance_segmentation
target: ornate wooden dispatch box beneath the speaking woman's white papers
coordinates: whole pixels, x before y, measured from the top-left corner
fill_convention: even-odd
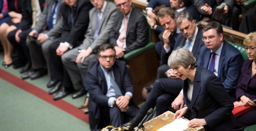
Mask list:
[[[173,116],[174,113],[171,111],[166,111],[165,113],[157,116],[156,118],[153,118],[146,123],[144,123],[145,131],[156,131],[157,129],[160,129],[161,127],[165,126],[166,124],[169,124],[173,122]],[[188,119],[184,118],[186,121],[189,121]],[[137,129],[134,128],[135,130]],[[138,131],[142,131],[142,129],[139,129]],[[198,126],[195,128],[188,128],[185,131],[204,131],[203,126]]]

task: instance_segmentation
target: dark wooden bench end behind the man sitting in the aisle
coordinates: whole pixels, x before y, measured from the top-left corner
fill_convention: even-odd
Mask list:
[[[155,49],[151,49],[126,62],[134,87],[133,101],[135,104],[138,105],[144,102],[142,98],[142,89],[156,80],[159,60],[160,58],[156,54]]]

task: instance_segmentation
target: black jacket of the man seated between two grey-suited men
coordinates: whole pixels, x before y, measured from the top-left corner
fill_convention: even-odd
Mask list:
[[[77,1],[73,27],[71,23],[71,7],[63,2],[59,5],[59,8],[64,26],[60,42],[68,42],[70,45],[81,44],[89,25],[89,10],[93,8],[92,3],[90,0]]]

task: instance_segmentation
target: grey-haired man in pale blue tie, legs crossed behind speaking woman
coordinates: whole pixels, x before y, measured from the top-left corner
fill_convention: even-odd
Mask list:
[[[197,59],[199,50],[204,44],[202,41],[202,31],[195,26],[195,20],[193,20],[192,15],[188,12],[178,13],[175,22],[182,35],[178,35],[174,49],[176,49],[176,47],[187,48]],[[173,99],[178,96],[182,89],[183,81],[182,79],[179,79],[179,76],[174,74],[173,69],[170,69],[167,74],[168,77],[172,79],[157,79],[152,88],[152,93],[149,94],[149,97],[140,108],[140,113],[138,113],[132,121],[124,124],[124,126],[130,124],[129,129],[133,129],[144,118],[147,111],[150,108],[154,108],[154,106],[157,107],[157,115],[163,114],[169,110],[169,106],[173,102]],[[184,101],[182,101],[182,104],[183,102]]]

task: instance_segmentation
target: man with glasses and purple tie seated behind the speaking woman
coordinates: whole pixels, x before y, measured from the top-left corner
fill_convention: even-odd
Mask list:
[[[205,67],[220,78],[233,101],[235,88],[244,59],[233,45],[223,40],[223,29],[218,22],[209,22],[204,28],[204,45],[200,49],[197,65]]]

